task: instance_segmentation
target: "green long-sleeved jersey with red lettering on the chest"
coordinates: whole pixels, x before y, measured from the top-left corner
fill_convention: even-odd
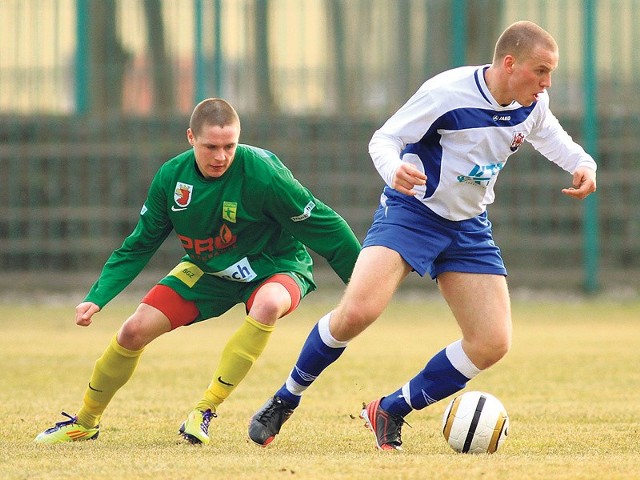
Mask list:
[[[315,287],[306,245],[346,283],[360,251],[345,220],[302,186],[273,153],[238,145],[229,169],[219,178],[205,179],[188,150],[160,167],[138,224],[111,254],[85,300],[106,305],[172,231],[186,252],[183,261],[230,282],[290,272]]]

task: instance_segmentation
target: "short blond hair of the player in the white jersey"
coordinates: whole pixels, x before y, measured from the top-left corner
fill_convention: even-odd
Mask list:
[[[496,42],[493,63],[500,62],[507,55],[513,55],[515,58],[527,58],[538,46],[549,51],[558,51],[555,39],[542,27],[526,20],[512,23],[502,32]]]

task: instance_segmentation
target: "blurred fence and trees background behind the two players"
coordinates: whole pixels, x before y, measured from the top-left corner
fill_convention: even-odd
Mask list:
[[[0,18],[5,290],[88,288],[212,96],[363,239],[382,188],[373,132],[428,77],[489,63],[527,19],[558,41],[551,107],[599,188],[575,201],[528,144],[511,157],[489,208],[510,283],[638,294],[640,0],[2,0]],[[170,238],[147,274],[180,255]]]

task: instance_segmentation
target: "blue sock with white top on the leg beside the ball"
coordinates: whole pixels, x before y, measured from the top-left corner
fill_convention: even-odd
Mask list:
[[[456,366],[454,366],[454,363]],[[460,369],[463,369],[463,374]],[[418,375],[380,402],[394,415],[405,416],[462,390],[480,372],[464,354],[460,342],[438,352]]]

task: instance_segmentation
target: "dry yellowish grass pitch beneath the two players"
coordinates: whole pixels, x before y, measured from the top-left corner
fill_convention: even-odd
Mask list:
[[[158,339],[107,409],[97,441],[43,446],[41,430],[74,413],[94,361],[132,304],[80,328],[75,304],[0,304],[2,479],[617,479],[638,478],[640,302],[514,302],[514,343],[468,390],[493,393],[511,429],[495,455],[454,453],[440,433],[445,401],[407,417],[404,450],[382,453],[358,418],[457,338],[444,303],[397,301],[306,393],[267,448],[250,444],[253,412],[280,386],[317,318],[312,300],[284,320],[219,409],[208,446],[177,429],[242,310]]]

